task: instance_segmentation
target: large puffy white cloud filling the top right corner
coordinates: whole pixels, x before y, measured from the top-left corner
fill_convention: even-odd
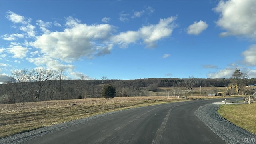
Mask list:
[[[216,24],[226,30],[220,36],[244,36],[256,40],[256,1],[220,1],[213,9],[220,13]]]

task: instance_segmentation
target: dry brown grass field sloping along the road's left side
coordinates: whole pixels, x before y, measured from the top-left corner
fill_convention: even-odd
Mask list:
[[[178,102],[168,97],[116,97],[0,105],[0,138],[100,113]]]

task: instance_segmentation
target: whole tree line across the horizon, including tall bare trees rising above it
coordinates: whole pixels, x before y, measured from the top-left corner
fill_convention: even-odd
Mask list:
[[[104,86],[112,84],[116,96],[148,96],[148,91],[158,87],[172,87],[177,90],[186,88],[191,96],[194,87],[224,87],[232,84],[241,86],[256,84],[256,79],[248,79],[240,70],[235,70],[234,76],[222,79],[194,78],[146,78],[137,80],[109,80],[102,76],[99,80],[66,80],[65,70],[53,71],[46,69],[14,70],[12,78],[0,84],[0,102],[18,103],[46,100],[64,100],[78,98],[102,97]],[[178,91],[177,91],[178,92]],[[175,92],[174,92],[175,93]]]

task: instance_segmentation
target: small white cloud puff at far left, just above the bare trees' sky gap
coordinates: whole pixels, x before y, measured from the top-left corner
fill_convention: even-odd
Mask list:
[[[8,48],[8,52],[13,54],[14,58],[24,58],[28,52],[28,48],[20,46],[20,45],[10,45]]]

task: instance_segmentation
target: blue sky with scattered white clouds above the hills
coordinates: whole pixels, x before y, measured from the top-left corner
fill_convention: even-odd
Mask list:
[[[12,71],[66,79],[256,77],[256,0],[0,1],[0,82]]]

